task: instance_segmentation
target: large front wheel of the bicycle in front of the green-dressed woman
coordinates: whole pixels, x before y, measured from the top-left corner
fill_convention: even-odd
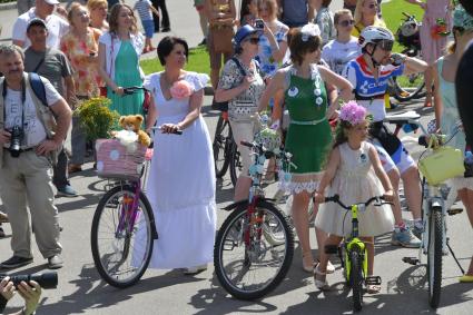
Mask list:
[[[217,278],[239,299],[259,298],[275,289],[289,270],[294,255],[294,235],[286,216],[266,200],[258,201],[252,218],[247,207],[240,205],[227,217],[214,248]],[[282,227],[278,239],[284,243],[272,245],[262,233],[265,220]]]

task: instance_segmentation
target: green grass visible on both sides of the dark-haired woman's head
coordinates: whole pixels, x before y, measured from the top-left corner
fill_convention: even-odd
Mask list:
[[[141,69],[146,75],[162,71],[164,67],[159,63],[159,59],[146,59],[140,61]],[[208,52],[205,46],[199,46],[189,49],[189,59],[186,66],[186,70],[196,71],[200,73],[210,73],[210,60],[208,59]]]

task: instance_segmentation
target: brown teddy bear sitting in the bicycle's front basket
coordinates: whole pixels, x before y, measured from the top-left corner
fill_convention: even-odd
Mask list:
[[[149,136],[140,129],[144,118],[141,115],[128,115],[121,116],[118,121],[124,130],[115,131],[112,136],[120,140],[125,146],[129,146],[136,142],[148,147],[151,142]]]

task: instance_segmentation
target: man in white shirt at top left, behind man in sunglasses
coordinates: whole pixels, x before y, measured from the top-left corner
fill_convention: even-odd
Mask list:
[[[28,12],[18,17],[13,24],[13,43],[26,49],[31,42],[27,37],[27,28],[29,22],[35,18],[40,18],[46,21],[48,27],[47,46],[59,49],[61,38],[69,31],[69,23],[62,18],[53,14],[58,0],[36,0],[36,7]]]

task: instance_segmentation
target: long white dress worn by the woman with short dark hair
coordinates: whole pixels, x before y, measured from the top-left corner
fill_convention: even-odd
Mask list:
[[[144,86],[155,98],[156,126],[177,124],[189,112],[189,98],[166,100],[154,73]],[[195,91],[206,75],[187,72]],[[151,268],[186,268],[213,262],[216,230],[215,169],[210,137],[200,116],[183,135],[155,132],[147,197],[159,238],[154,243]]]

